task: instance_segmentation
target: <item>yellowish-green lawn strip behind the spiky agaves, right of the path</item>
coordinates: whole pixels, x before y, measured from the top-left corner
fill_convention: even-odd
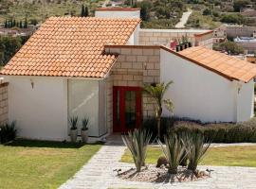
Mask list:
[[[159,147],[149,147],[146,163],[156,163],[158,157],[162,155],[162,151]],[[121,161],[133,163],[128,150],[125,151]],[[200,164],[256,167],[256,146],[210,147],[204,160]]]

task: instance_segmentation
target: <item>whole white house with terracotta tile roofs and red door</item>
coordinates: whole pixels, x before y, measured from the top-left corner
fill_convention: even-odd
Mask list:
[[[89,118],[91,139],[140,127],[143,117],[154,114],[141,88],[170,80],[165,97],[177,116],[204,122],[253,116],[254,64],[200,45],[175,52],[140,44],[139,23],[47,19],[1,71],[9,82],[9,120],[16,120],[19,136],[68,140],[72,115]]]

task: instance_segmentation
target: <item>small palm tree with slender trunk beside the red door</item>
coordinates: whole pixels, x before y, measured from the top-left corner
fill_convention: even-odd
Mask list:
[[[156,84],[155,86],[148,85],[144,87],[144,93],[149,94],[156,103],[155,108],[155,118],[157,120],[157,136],[160,138],[161,136],[161,115],[162,115],[162,104],[165,103],[164,101],[167,101],[168,103],[171,103],[171,100],[164,100],[164,94],[170,87],[170,85],[173,83],[173,81],[165,83]],[[170,104],[168,107],[172,107]]]

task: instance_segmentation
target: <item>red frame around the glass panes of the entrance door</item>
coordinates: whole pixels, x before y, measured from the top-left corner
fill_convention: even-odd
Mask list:
[[[117,123],[117,92],[119,91],[119,123]],[[113,86],[113,132],[128,132],[125,127],[125,92],[135,91],[136,94],[136,118],[137,123],[135,129],[139,128],[142,123],[142,88],[141,87],[126,87]]]

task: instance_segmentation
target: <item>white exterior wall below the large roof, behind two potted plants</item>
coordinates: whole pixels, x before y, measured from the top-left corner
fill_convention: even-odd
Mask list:
[[[89,136],[106,134],[104,81],[63,77],[5,79],[9,81],[9,120],[16,120],[19,137],[69,140],[68,118],[72,115],[89,118]],[[81,127],[80,122],[79,134]]]

